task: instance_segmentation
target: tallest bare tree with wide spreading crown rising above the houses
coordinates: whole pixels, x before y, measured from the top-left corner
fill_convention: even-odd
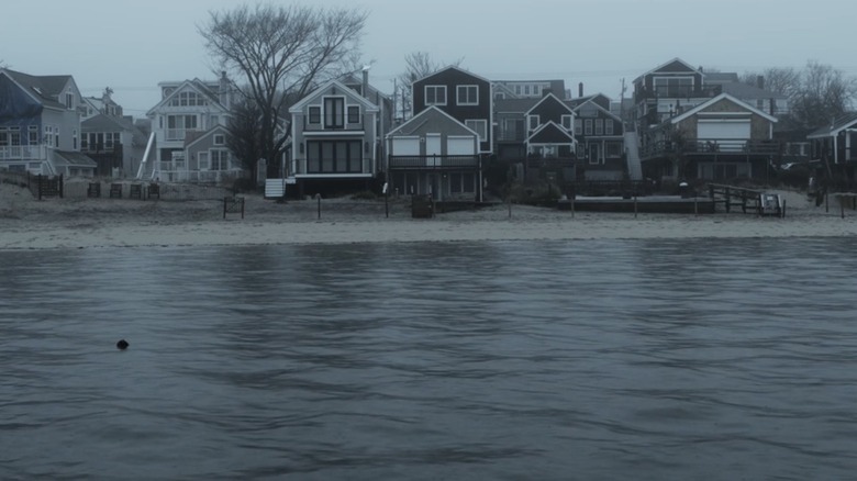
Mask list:
[[[286,136],[278,116],[321,80],[338,75],[359,49],[367,14],[360,10],[256,4],[210,12],[200,26],[209,53],[243,77],[238,88],[260,114],[259,143],[268,177],[286,176],[277,161]]]

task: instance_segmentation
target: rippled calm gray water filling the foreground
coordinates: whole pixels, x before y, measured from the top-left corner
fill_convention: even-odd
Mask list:
[[[0,253],[0,479],[853,479],[854,245]]]

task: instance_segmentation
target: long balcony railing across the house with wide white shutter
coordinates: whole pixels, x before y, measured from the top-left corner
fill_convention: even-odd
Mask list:
[[[669,154],[685,156],[715,155],[778,155],[781,153],[777,141],[753,141],[746,138],[710,138],[705,141],[687,141],[681,144],[670,141],[659,141],[639,149],[642,159],[663,157]]]

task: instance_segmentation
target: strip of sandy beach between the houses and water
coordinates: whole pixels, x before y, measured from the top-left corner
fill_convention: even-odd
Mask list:
[[[781,192],[787,216],[717,213],[590,213],[508,205],[412,219],[404,199],[324,199],[277,203],[246,194],[245,215],[223,219],[218,200],[43,199],[0,186],[0,249],[143,246],[349,244],[530,239],[632,239],[704,237],[825,237],[857,235],[857,211],[841,217],[805,194]]]

